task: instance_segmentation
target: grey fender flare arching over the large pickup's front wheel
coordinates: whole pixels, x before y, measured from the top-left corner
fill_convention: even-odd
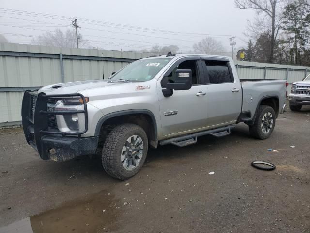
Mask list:
[[[100,130],[102,125],[104,124],[104,122],[110,118],[113,118],[115,116],[124,116],[124,115],[131,115],[131,114],[147,114],[148,116],[151,117],[153,124],[154,124],[154,133],[155,133],[155,138],[157,138],[157,123],[156,123],[156,118],[154,116],[154,114],[147,109],[129,109],[129,110],[122,110],[122,111],[117,111],[117,112],[113,112],[113,113],[109,113],[105,116],[102,116],[97,125],[96,125],[96,129],[95,129],[95,136],[99,136],[100,135]]]

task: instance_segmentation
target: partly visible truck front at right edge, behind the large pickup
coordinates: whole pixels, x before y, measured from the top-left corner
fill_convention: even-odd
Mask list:
[[[310,74],[303,81],[292,84],[288,99],[292,111],[299,111],[303,105],[310,105]]]

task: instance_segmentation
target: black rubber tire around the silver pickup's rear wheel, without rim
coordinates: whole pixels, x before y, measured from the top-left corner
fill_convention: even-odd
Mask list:
[[[272,116],[272,126],[268,132],[264,132],[262,129],[262,123],[263,123],[263,117],[265,114],[268,115],[268,113]],[[267,105],[260,105],[257,109],[256,118],[253,125],[249,125],[249,131],[252,137],[257,139],[267,139],[270,134],[273,132],[273,129],[275,128],[276,124],[276,114],[272,107]]]

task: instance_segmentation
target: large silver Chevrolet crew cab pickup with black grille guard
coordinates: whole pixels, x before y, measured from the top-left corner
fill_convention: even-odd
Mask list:
[[[202,135],[228,135],[240,122],[268,138],[285,99],[285,80],[240,81],[229,57],[169,53],[107,80],[28,90],[22,122],[42,159],[100,154],[105,171],[124,180],[140,170],[149,146],[184,147]]]

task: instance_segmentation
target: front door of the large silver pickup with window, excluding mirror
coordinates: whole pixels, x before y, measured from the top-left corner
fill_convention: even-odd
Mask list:
[[[162,90],[168,82],[173,82],[177,69],[192,70],[192,87],[189,90],[173,90],[172,96],[164,97]],[[165,138],[199,131],[207,126],[207,86],[199,57],[180,59],[159,81],[157,92],[162,132]]]

